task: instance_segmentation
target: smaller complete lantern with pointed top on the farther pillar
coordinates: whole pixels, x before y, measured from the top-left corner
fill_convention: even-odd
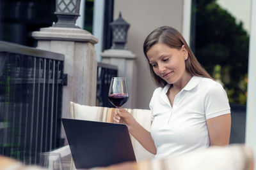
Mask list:
[[[130,27],[130,24],[127,23],[119,13],[119,17],[111,22],[110,27],[113,31],[113,46],[111,48],[114,49],[125,49],[125,43],[127,39],[127,32]]]

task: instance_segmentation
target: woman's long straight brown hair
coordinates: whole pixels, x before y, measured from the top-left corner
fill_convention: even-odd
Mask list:
[[[182,47],[182,45],[184,45],[186,50],[188,51],[188,59],[185,62],[186,71],[188,71],[188,73],[190,73],[193,76],[211,78],[211,76],[207,73],[207,71],[205,71],[205,69],[200,65],[200,63],[196,59],[194,53],[189,48],[182,34],[180,34],[180,32],[174,29],[173,27],[159,27],[147,36],[143,45],[144,54],[147,60],[148,50],[157,43],[163,43],[164,45],[170,46],[170,48],[177,48],[179,50]],[[153,67],[149,63],[149,60],[148,65],[150,67],[150,73],[156,85],[158,87],[164,87],[167,82],[164,81],[161,77],[157,76],[157,74],[153,70]]]

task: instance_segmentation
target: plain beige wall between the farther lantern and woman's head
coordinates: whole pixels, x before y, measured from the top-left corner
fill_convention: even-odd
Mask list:
[[[114,20],[121,11],[122,17],[131,24],[126,46],[137,57],[136,108],[148,109],[156,88],[143,54],[143,42],[151,31],[163,25],[175,27],[182,32],[183,8],[182,0],[115,0]]]

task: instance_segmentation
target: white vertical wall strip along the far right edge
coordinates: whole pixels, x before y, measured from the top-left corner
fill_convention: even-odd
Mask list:
[[[248,97],[245,142],[253,147],[256,162],[256,0],[252,0],[251,34],[248,68]],[[255,166],[256,169],[256,166]]]

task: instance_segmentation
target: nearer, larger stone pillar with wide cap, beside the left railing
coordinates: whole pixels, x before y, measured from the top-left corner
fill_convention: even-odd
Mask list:
[[[32,32],[38,39],[37,48],[63,53],[64,73],[68,84],[63,87],[62,117],[70,118],[69,102],[95,106],[97,57],[94,44],[98,39],[79,28],[47,27]],[[61,136],[65,136],[62,131]]]

